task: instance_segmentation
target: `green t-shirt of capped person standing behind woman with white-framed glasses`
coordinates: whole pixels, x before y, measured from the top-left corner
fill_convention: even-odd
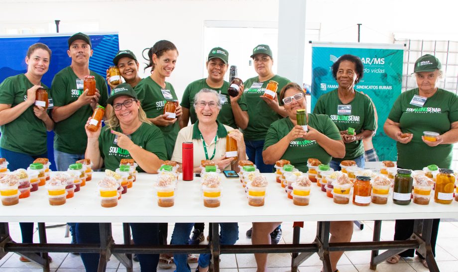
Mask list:
[[[245,90],[242,97],[245,98],[246,105],[248,106],[249,122],[246,129],[243,130],[243,135],[249,141],[264,140],[267,130],[272,122],[282,118],[281,115],[276,113],[271,107],[262,100],[260,95],[264,94],[265,88],[269,81],[276,81],[278,83],[277,98],[280,96],[281,89],[290,83],[286,78],[278,75],[273,76],[271,79],[264,82],[259,82],[258,77],[246,80],[243,85]],[[279,101],[281,104],[281,101]]]

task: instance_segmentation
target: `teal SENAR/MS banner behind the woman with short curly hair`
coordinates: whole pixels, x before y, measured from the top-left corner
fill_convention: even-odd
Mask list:
[[[396,142],[383,132],[391,107],[401,93],[403,47],[397,44],[312,43],[312,111],[320,95],[337,89],[331,66],[340,56],[358,56],[364,64],[362,80],[355,86],[372,99],[378,114],[378,128],[372,138],[378,158],[396,161]]]

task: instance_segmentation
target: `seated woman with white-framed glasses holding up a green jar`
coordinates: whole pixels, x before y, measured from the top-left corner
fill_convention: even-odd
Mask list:
[[[297,124],[296,111],[307,110],[304,91],[296,83],[289,83],[280,92],[287,117],[272,123],[267,131],[262,157],[264,163],[275,164],[286,159],[300,171],[306,172],[309,158],[320,159],[323,163],[332,157],[343,158],[345,146],[339,129],[325,114],[307,114],[308,131]],[[253,245],[270,244],[270,233],[281,222],[254,223],[251,235]],[[349,242],[353,234],[352,221],[336,221],[331,223],[330,242]],[[336,271],[337,262],[343,252],[330,253],[332,271]],[[258,271],[267,269],[267,254],[254,254]]]

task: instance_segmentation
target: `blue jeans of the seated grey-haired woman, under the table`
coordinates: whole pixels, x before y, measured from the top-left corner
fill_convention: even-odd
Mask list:
[[[189,235],[194,226],[194,223],[175,223],[173,229],[171,245],[187,245]],[[238,224],[237,223],[220,223],[220,244],[233,245],[238,240]],[[201,254],[199,256],[199,266],[206,268],[210,265],[211,254]],[[190,272],[191,268],[188,265],[187,254],[174,254],[173,260],[177,267],[176,272]]]

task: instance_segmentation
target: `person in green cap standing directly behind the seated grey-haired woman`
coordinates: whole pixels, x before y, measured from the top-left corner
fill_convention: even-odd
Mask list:
[[[188,125],[197,121],[196,110],[193,107],[194,96],[202,89],[210,89],[219,92],[222,108],[218,114],[218,121],[232,128],[245,129],[248,125],[248,113],[245,99],[242,96],[243,85],[240,86],[238,95],[233,97],[228,93],[229,82],[224,80],[228,71],[229,52],[221,47],[210,50],[207,59],[208,77],[190,83],[183,93],[181,106],[183,115],[180,126]],[[237,89],[237,87],[235,87]]]

